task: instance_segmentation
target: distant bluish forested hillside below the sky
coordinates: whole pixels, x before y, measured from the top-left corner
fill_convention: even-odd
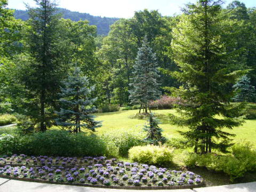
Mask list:
[[[59,8],[58,12],[62,13],[62,17],[64,19],[71,19],[72,21],[79,21],[81,19],[88,20],[90,22],[90,25],[97,26],[98,35],[107,35],[109,31],[109,26],[118,20],[118,18],[93,16],[89,13],[79,13],[62,8]],[[23,21],[26,21],[29,18],[28,10],[15,10],[14,16],[16,19],[22,19]]]

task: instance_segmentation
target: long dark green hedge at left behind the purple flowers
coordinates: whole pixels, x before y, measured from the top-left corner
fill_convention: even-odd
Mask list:
[[[95,134],[71,134],[62,130],[49,130],[30,135],[2,134],[0,154],[116,156],[113,148]]]

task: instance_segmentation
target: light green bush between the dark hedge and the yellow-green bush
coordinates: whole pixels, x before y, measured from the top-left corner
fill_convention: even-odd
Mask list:
[[[108,147],[115,146],[119,156],[126,156],[129,149],[134,146],[145,145],[145,142],[142,141],[145,133],[135,131],[113,131],[104,133],[100,137]]]

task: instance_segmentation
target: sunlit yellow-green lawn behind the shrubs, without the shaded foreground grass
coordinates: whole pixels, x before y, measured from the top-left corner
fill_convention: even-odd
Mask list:
[[[186,128],[180,128],[175,125],[171,125],[168,122],[168,114],[175,114],[175,110],[154,110],[160,116],[162,122],[160,127],[163,128],[164,134],[169,137],[180,137],[178,130],[185,130]],[[98,128],[99,133],[104,133],[108,131],[118,131],[118,130],[138,130],[142,131],[143,126],[147,123],[145,120],[132,119],[129,116],[138,113],[138,110],[128,110],[128,111],[117,111],[111,113],[100,113],[95,114],[98,121],[102,121],[102,127]],[[234,130],[228,130],[230,133],[236,134],[234,141],[250,141],[256,146],[256,119],[246,120],[242,126],[235,127]]]

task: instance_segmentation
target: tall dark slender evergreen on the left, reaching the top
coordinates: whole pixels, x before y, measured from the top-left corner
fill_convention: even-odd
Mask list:
[[[68,67],[63,57],[57,5],[53,0],[34,1],[38,7],[28,7],[30,19],[25,45],[29,55],[22,57],[20,79],[28,90],[25,101],[31,102],[27,105],[28,115],[40,124],[40,131],[46,131],[46,127],[51,126],[59,86]]]

